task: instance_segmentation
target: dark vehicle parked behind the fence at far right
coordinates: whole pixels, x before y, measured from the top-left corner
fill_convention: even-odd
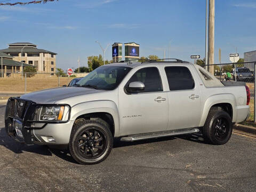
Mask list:
[[[237,67],[236,71],[233,69],[233,80],[235,81],[246,81],[246,82],[252,82],[254,81],[254,74],[250,69],[246,67]],[[236,73],[235,73],[236,72]]]

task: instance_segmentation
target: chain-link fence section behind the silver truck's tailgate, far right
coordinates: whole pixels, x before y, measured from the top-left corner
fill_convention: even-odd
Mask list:
[[[256,61],[253,62],[241,62],[241,63],[222,63],[207,65],[206,68],[214,68],[214,76],[217,77],[220,81],[235,81],[235,82],[244,82],[247,87],[250,89],[250,111],[251,114],[246,122],[243,122],[245,125],[253,125],[256,123],[256,109],[255,109],[255,66]],[[255,111],[255,112],[254,112]]]

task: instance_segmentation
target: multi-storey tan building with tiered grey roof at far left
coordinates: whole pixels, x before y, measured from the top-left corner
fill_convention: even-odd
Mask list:
[[[37,45],[28,42],[11,43],[8,49],[0,52],[9,54],[14,61],[35,66],[38,73],[55,73],[57,53],[37,49]]]

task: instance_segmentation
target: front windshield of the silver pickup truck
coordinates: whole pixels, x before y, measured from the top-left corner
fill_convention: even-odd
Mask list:
[[[77,86],[114,90],[131,70],[130,67],[102,66],[82,78]]]

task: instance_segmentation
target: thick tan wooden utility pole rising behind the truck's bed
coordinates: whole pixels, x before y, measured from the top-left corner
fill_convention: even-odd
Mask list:
[[[214,2],[215,0],[209,0],[209,65],[214,64]],[[209,72],[214,74],[214,66],[209,66]]]

